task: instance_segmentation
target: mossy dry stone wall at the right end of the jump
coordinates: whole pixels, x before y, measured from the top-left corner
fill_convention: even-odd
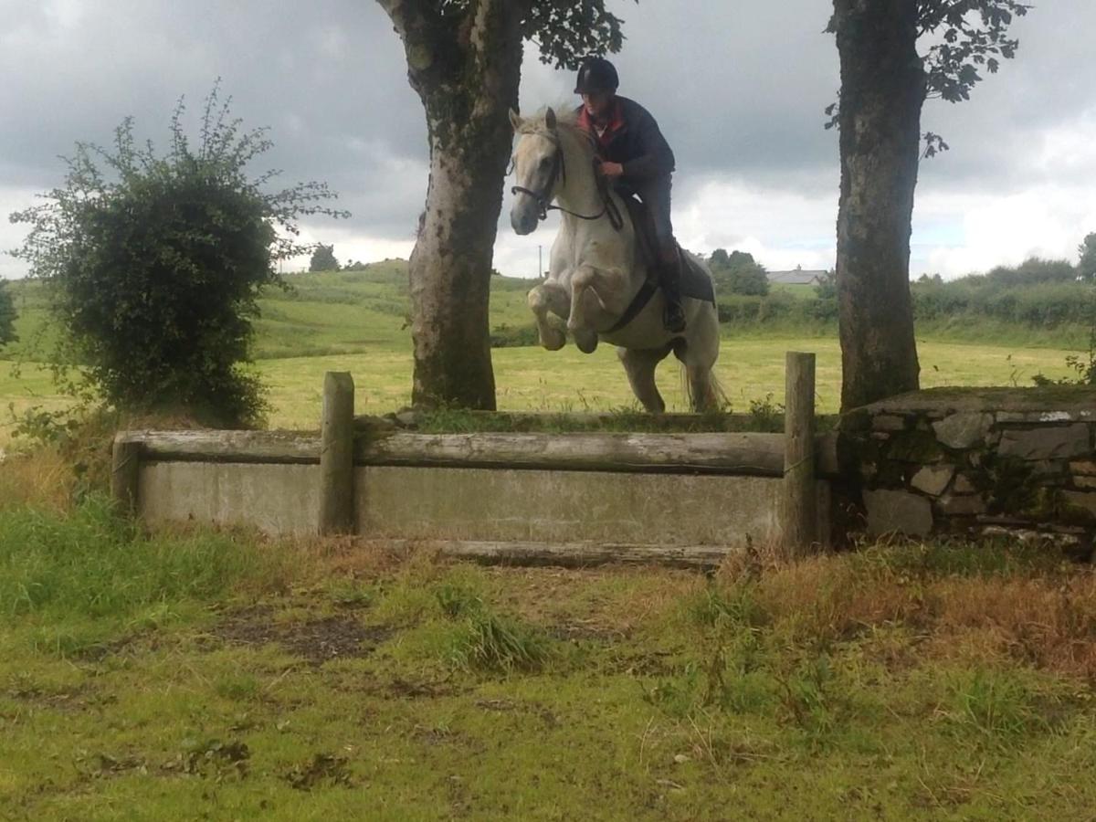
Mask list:
[[[1091,546],[1096,388],[931,389],[848,414],[867,529]]]

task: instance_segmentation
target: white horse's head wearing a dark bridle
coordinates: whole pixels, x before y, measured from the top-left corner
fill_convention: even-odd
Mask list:
[[[517,135],[513,158],[515,185],[512,189],[516,196],[510,209],[510,225],[515,232],[528,235],[544,219],[545,209],[562,182],[562,148],[556,112],[551,109],[547,109],[544,116],[527,119],[511,109],[510,123]]]

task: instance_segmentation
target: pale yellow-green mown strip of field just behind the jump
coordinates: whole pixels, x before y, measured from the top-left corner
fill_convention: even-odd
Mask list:
[[[836,340],[769,336],[723,340],[716,373],[731,407],[747,411],[752,401],[784,401],[784,355],[787,351],[818,354],[818,408],[833,413],[841,401],[841,350]],[[1013,349],[923,341],[918,345],[922,385],[1031,385],[1035,374],[1065,376],[1065,356],[1053,349]],[[496,349],[492,353],[499,408],[507,411],[607,411],[633,406],[615,351],[600,347],[591,355],[573,345],[548,352],[537,347]],[[264,359],[259,367],[271,386],[275,427],[315,427],[320,413],[323,373],[354,375],[359,413],[392,411],[411,401],[411,352],[384,351],[308,358]],[[670,410],[687,410],[676,361],[659,368],[660,389]]]

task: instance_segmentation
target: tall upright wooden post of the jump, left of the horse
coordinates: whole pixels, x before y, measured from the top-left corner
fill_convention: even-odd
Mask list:
[[[320,432],[319,532],[354,533],[354,380],[345,372],[323,377]]]

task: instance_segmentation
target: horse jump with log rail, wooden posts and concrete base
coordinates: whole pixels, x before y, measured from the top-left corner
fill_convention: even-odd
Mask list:
[[[112,489],[150,525],[354,535],[492,561],[718,564],[728,551],[829,538],[831,439],[814,431],[814,355],[787,355],[783,434],[402,431],[354,416],[324,379],[319,433],[134,431]]]

